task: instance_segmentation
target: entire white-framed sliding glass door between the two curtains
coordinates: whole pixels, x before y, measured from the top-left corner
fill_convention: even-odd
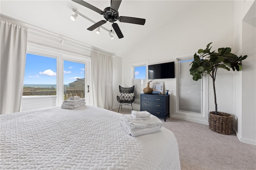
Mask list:
[[[40,91],[35,87],[26,89],[32,95],[22,96],[22,111],[62,105],[67,88],[74,89],[72,96],[85,98],[90,104],[90,57],[30,43],[24,76],[24,87],[40,85]]]

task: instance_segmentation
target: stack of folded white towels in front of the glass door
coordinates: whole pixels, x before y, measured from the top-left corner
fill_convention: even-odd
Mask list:
[[[63,101],[62,109],[76,109],[86,104],[85,99],[80,99],[79,96],[69,97],[68,100]]]

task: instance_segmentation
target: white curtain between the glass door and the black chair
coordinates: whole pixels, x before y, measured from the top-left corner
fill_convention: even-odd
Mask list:
[[[93,105],[112,110],[112,56],[92,51]]]

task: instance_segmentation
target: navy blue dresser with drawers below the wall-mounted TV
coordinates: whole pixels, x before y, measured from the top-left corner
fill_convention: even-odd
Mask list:
[[[148,111],[156,117],[170,117],[170,95],[140,94],[140,111]]]

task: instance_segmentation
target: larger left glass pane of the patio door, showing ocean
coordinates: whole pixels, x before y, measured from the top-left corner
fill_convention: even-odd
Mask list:
[[[56,96],[56,69],[56,58],[27,53],[22,96]]]

